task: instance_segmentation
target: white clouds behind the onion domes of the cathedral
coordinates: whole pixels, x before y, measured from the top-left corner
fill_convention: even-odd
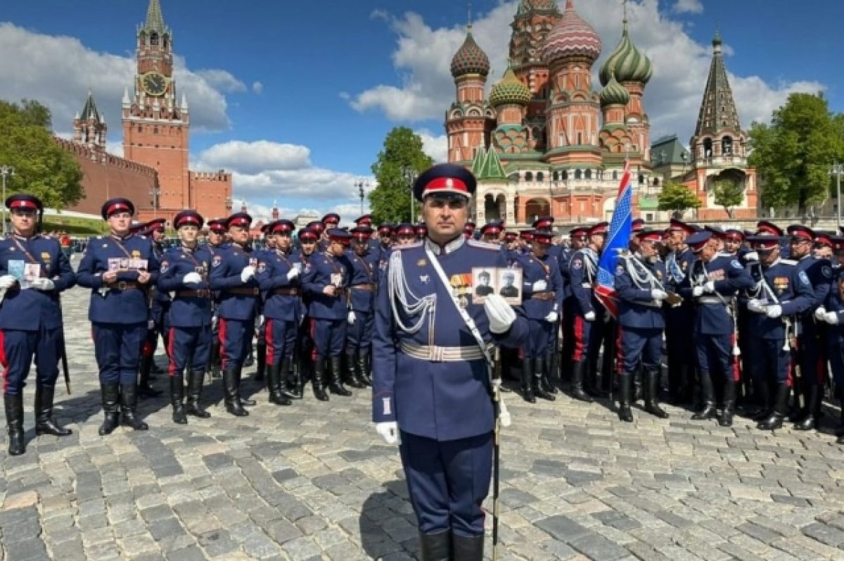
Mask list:
[[[697,0],[680,0],[674,4],[688,11]],[[516,13],[517,0],[500,3],[473,22],[473,36],[490,57],[492,71],[488,87],[500,78],[506,66],[510,25]],[[645,92],[645,107],[651,119],[652,138],[678,134],[687,142],[694,132],[701,97],[711,63],[711,46],[694,41],[682,22],[661,13],[658,0],[641,0],[628,4],[630,34],[642,52],[651,58],[654,74]],[[578,13],[587,19],[603,40],[603,57],[598,68],[614,51],[621,36],[622,5],[617,0],[592,0],[577,3]],[[463,25],[434,29],[418,14],[403,17],[379,12],[373,17],[387,21],[398,35],[392,63],[398,72],[398,84],[374,84],[371,88],[349,96],[349,104],[357,111],[379,111],[393,121],[441,121],[455,99],[455,86],[450,63],[466,31]],[[714,30],[712,30],[714,33]],[[729,41],[729,37],[724,37]],[[729,66],[733,53],[727,44],[724,52]],[[741,56],[741,53],[736,53]],[[776,107],[794,91],[816,92],[824,85],[800,79],[767,83],[758,76],[730,76],[738,105],[738,115],[745,128],[754,120],[767,120]],[[600,87],[597,79],[596,87]]]

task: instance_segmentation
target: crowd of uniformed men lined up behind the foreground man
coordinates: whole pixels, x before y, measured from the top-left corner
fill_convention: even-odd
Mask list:
[[[21,393],[32,357],[36,433],[70,433],[52,417],[62,291],[91,289],[100,434],[121,421],[147,428],[135,411],[138,395],[161,393],[150,384],[159,339],[174,422],[208,417],[208,373],[222,378],[226,411],[246,416],[255,402],[240,387],[253,351],[255,379],[279,406],[302,398],[307,382],[323,401],[370,386],[376,286],[392,248],[426,236],[424,224],[374,229],[370,215],[341,229],[328,214],[298,231],[273,221],[263,227],[265,247],[254,249],[249,215],[206,223],[185,210],[172,224],[178,243],[165,250],[164,219],[138,225],[131,201],[111,199],[102,206],[111,234],[89,240],[74,274],[57,240],[37,231],[41,201],[16,194],[6,206],[14,233],[0,242],[0,358],[13,455],[25,449]],[[553,222],[479,228],[481,241],[500,244],[508,266],[522,269],[530,335],[504,362],[524,400],[554,400],[567,381],[577,400],[613,392],[619,418],[630,422],[639,399],[644,411],[668,417],[659,406],[667,391],[695,406],[694,419],[730,426],[738,407],[766,430],[786,418],[799,430],[817,428],[827,387],[844,400],[844,237],[768,221],[756,231],[677,220],[649,230],[636,219],[614,271],[614,318],[593,291],[608,225],[576,227],[559,242]],[[464,232],[478,237],[471,222]]]

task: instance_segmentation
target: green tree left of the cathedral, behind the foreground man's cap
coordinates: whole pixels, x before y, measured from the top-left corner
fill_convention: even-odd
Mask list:
[[[396,127],[387,133],[384,148],[372,164],[378,186],[369,199],[376,223],[414,221],[410,215],[410,188],[404,171],[415,174],[425,171],[434,161],[422,151],[422,139],[407,127]],[[416,210],[418,212],[419,206]]]

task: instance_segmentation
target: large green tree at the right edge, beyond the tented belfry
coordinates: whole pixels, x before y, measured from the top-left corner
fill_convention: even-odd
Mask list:
[[[844,159],[844,123],[830,113],[822,94],[792,94],[771,124],[750,128],[749,164],[760,176],[762,204],[777,209],[823,204],[830,165]]]

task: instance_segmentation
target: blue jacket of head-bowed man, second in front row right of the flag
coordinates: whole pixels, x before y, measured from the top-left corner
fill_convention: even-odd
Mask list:
[[[715,286],[715,292],[704,291],[700,297],[693,297],[694,287],[703,286],[709,280]],[[678,292],[684,300],[695,304],[695,333],[729,335],[735,328],[734,311],[725,303],[732,303],[738,291],[751,286],[753,278],[744,265],[732,255],[719,253],[706,264],[701,259],[693,261]]]

